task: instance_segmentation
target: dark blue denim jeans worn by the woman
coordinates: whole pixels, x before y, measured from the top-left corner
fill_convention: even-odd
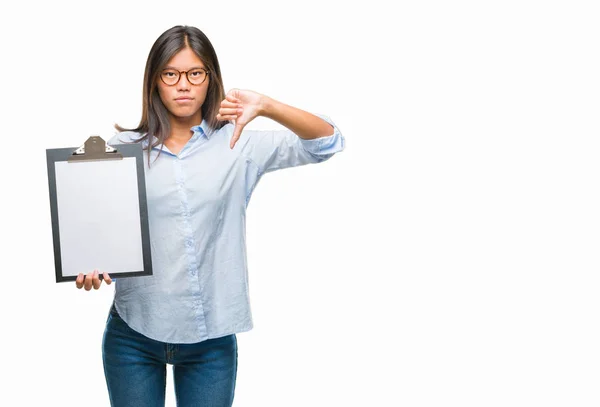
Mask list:
[[[193,344],[150,339],[110,310],[102,360],[112,407],[164,407],[166,365],[173,365],[178,407],[231,407],[237,375],[235,334]]]

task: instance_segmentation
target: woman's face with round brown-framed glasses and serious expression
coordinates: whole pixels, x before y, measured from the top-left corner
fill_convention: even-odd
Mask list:
[[[191,119],[197,124],[202,121],[200,108],[206,98],[210,77],[206,75],[206,79],[200,85],[194,85],[188,79],[188,75],[192,81],[201,78],[204,75],[202,69],[206,69],[206,67],[200,58],[191,48],[184,48],[175,54],[159,73],[157,79],[158,94],[173,116]],[[189,72],[189,74],[186,75],[181,72]],[[171,83],[176,80],[177,75],[179,81],[174,85],[169,86],[163,81],[164,79]]]

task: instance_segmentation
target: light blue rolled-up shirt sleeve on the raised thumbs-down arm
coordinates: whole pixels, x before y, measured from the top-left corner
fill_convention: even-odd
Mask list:
[[[328,160],[345,147],[345,139],[327,116],[317,115],[333,126],[330,136],[305,140],[290,130],[244,130],[241,154],[253,161],[263,174],[288,167]]]

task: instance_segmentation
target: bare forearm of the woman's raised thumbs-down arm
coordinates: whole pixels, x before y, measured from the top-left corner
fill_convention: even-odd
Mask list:
[[[260,115],[275,120],[306,140],[333,134],[333,126],[320,117],[268,96],[263,95]]]

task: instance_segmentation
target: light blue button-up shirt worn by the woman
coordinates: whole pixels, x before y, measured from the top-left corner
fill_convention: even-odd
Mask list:
[[[115,281],[115,307],[137,332],[167,343],[195,343],[252,329],[246,259],[246,207],[262,175],[319,163],[344,149],[333,134],[303,140],[289,130],[244,130],[206,121],[179,154],[144,151],[152,276]],[[108,144],[132,142],[134,132]],[[148,141],[142,142],[144,147]]]

